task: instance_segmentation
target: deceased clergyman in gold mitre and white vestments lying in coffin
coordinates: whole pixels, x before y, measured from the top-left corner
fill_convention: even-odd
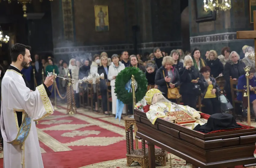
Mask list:
[[[147,104],[150,105],[149,111],[146,113],[146,115],[152,124],[155,124],[157,118],[162,118],[164,120],[173,122],[173,120],[175,120],[176,118],[166,115],[167,112],[173,111],[184,111],[186,113],[193,115],[194,118],[201,117],[201,115],[199,114],[201,112],[196,111],[192,107],[175,104],[173,102],[168,101],[162,95],[162,92],[155,88],[147,91],[145,99]]]

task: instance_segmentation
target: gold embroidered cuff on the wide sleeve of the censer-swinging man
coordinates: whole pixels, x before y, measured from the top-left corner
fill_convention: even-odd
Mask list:
[[[43,84],[39,85],[36,87],[38,90],[39,90],[39,93],[40,93],[40,96],[41,96],[41,99],[42,99],[42,102],[44,104],[44,107],[45,107],[45,110],[46,110],[46,113],[48,115],[51,115],[53,114],[53,109],[52,109],[52,106],[51,106],[51,101],[50,99],[48,98],[48,95],[45,91],[45,87]],[[45,116],[46,117],[46,116]],[[42,119],[42,118],[41,118]],[[35,120],[36,121],[36,120]],[[39,120],[37,120],[39,121]]]

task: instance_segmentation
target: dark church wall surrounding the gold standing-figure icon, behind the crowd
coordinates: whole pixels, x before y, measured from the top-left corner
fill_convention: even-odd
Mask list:
[[[109,31],[95,31],[97,4],[108,5]],[[154,47],[170,52],[182,47],[180,20],[180,1],[56,0],[52,2],[54,55],[106,51],[110,56],[123,50],[133,54],[135,49],[143,54]]]

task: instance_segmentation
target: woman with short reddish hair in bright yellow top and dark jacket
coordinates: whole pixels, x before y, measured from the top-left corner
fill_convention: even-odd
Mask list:
[[[211,69],[208,66],[201,68],[199,85],[202,91],[201,101],[202,104],[204,104],[203,112],[212,115],[215,113],[221,113],[220,101],[218,99],[220,88],[217,85],[216,80],[210,76],[210,72]]]

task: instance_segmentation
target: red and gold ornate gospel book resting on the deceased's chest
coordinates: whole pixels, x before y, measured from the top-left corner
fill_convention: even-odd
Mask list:
[[[189,114],[185,113],[184,111],[173,111],[167,112],[168,116],[176,117],[175,123],[177,124],[186,124],[186,123],[193,123],[196,122],[196,119]]]

